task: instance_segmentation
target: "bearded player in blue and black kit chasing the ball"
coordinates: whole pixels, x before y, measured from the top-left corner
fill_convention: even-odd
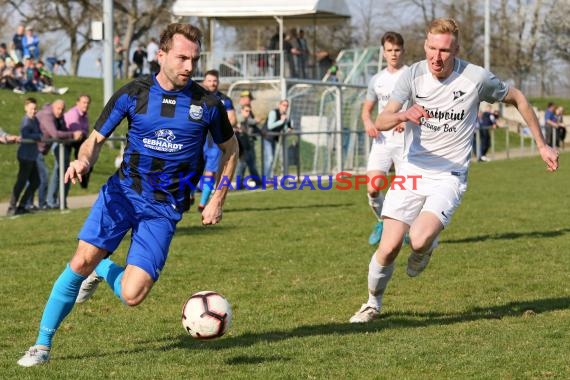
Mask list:
[[[35,345],[18,360],[23,367],[49,360],[53,336],[73,305],[87,300],[106,281],[128,306],[140,304],[158,280],[176,224],[203,171],[207,133],[222,150],[221,174],[232,178],[238,144],[224,105],[190,78],[200,57],[202,33],[189,24],[170,24],[161,33],[156,76],[143,76],[118,90],[95,130],[72,161],[65,180],[89,172],[102,145],[127,118],[121,167],[99,192],[75,255],[56,280],[44,308]],[[216,191],[202,213],[203,224],[222,219],[228,188]],[[131,232],[126,267],[109,256]]]

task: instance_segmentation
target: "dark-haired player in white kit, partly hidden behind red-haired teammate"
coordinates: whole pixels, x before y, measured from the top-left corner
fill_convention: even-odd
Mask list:
[[[368,243],[377,245],[382,236],[382,205],[384,194],[380,189],[387,186],[386,173],[392,163],[398,168],[404,159],[404,133],[402,130],[380,132],[374,126],[372,110],[378,104],[378,113],[382,112],[390,99],[392,89],[402,74],[404,67],[404,39],[399,33],[386,32],[381,39],[386,68],[374,75],[368,84],[366,99],[362,106],[362,121],[368,136],[373,137],[372,148],[368,157],[366,175],[368,182],[368,204],[376,216],[377,222],[368,238]]]

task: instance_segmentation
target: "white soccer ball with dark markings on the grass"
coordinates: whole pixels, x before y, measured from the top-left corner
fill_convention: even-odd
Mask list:
[[[194,293],[182,307],[182,326],[196,339],[219,338],[231,323],[232,306],[214,291]]]

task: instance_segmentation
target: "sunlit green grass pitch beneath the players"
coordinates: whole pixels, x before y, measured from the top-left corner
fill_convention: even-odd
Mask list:
[[[373,252],[364,190],[232,193],[218,226],[185,216],[142,305],[102,287],[62,324],[52,361],[29,369],[15,362],[88,210],[0,218],[0,377],[567,379],[568,160],[554,175],[538,158],[473,165],[430,266],[408,278],[405,248],[384,317],[356,326]],[[227,296],[234,321],[199,342],[180,311],[207,289]]]

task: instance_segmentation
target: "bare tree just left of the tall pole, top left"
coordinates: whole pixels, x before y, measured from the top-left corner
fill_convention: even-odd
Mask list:
[[[69,39],[70,65],[77,75],[79,60],[92,44],[91,21],[101,17],[99,1],[37,1],[33,9],[25,1],[8,0],[22,22],[34,25],[38,32],[63,32]],[[40,49],[45,49],[40,45]]]

